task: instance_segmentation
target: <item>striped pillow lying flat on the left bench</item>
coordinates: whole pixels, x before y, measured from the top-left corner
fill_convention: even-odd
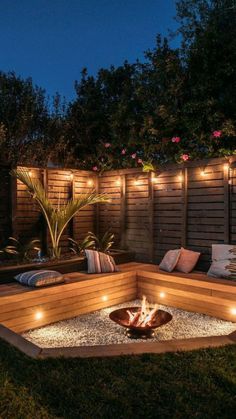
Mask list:
[[[23,272],[15,276],[15,279],[29,287],[45,287],[47,285],[64,282],[64,277],[57,271],[34,270]]]

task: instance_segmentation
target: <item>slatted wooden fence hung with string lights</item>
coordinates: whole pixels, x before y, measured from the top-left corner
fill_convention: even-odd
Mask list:
[[[30,239],[41,231],[45,237],[39,209],[24,185],[15,182],[14,189],[9,170],[0,170],[0,235]],[[183,246],[201,252],[199,268],[207,269],[213,243],[236,243],[235,156],[170,165],[156,174],[141,168],[99,176],[70,169],[27,170],[44,183],[54,205],[94,188],[111,198],[78,213],[63,235],[63,252],[68,252],[69,236],[81,240],[88,231],[101,235],[110,230],[116,247],[135,251],[139,261],[158,263],[166,251]]]

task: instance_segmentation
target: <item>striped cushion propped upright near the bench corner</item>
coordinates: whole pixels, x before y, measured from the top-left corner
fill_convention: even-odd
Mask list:
[[[97,250],[85,250],[88,260],[88,273],[100,274],[105,272],[118,272],[115,261],[112,256],[105,253],[98,252]]]

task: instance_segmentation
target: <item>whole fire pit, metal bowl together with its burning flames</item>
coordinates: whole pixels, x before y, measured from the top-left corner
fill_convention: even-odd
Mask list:
[[[172,319],[170,313],[158,310],[157,305],[149,307],[146,297],[143,297],[141,307],[120,308],[112,311],[109,317],[115,323],[125,327],[125,334],[131,339],[152,338],[154,329]]]

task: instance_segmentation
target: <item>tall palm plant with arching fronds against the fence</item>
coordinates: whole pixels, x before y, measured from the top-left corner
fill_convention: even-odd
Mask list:
[[[70,222],[70,220],[82,208],[97,204],[99,202],[108,202],[109,198],[105,194],[97,194],[95,191],[81,194],[79,198],[71,199],[69,202],[56,208],[47,198],[47,194],[41,182],[30,176],[29,172],[25,169],[13,169],[12,176],[16,176],[24,185],[26,185],[28,192],[38,203],[42,214],[45,217],[51,242],[52,242],[52,257],[60,257],[59,242],[63,231]]]

